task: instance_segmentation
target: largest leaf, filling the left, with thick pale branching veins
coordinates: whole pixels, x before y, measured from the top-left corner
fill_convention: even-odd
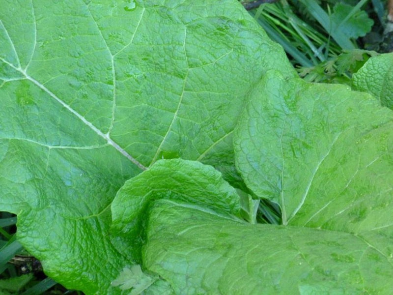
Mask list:
[[[109,232],[124,181],[157,159],[210,163],[241,185],[232,131],[270,68],[295,75],[235,0],[19,0],[0,9],[0,210],[67,287],[133,264]]]

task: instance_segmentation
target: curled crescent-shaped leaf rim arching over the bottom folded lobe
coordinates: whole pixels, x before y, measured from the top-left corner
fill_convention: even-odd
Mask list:
[[[239,195],[213,167],[181,159],[160,160],[126,181],[112,202],[113,228],[129,236],[136,248],[143,242],[149,206],[158,199],[204,206],[224,217],[241,216]]]

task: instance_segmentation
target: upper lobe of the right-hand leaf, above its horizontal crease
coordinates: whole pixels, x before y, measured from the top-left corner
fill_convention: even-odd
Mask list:
[[[258,197],[280,204],[283,224],[319,227],[335,216],[350,227],[378,214],[369,198],[391,206],[392,119],[366,93],[272,71],[239,122],[237,167]]]

